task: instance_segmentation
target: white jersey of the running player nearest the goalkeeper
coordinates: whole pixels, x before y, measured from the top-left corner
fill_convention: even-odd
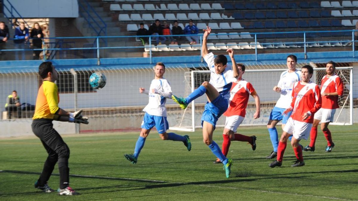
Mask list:
[[[149,102],[147,106],[143,109],[144,112],[160,117],[166,117],[166,108],[165,102],[166,98],[161,96],[160,94],[152,93],[152,89],[157,89],[158,91],[162,92],[169,92],[171,93],[171,87],[165,78],[161,79],[153,79],[150,88],[149,88]]]

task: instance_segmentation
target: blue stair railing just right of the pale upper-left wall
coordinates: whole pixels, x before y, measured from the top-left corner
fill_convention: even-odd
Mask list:
[[[102,20],[98,15],[95,9],[88,4],[86,0],[78,0],[79,14],[87,21],[88,27],[91,27],[97,36],[107,36],[107,24]],[[91,15],[91,12],[94,13],[94,16]],[[100,20],[100,23],[96,21],[96,18]],[[106,38],[102,38],[103,42],[107,43]]]

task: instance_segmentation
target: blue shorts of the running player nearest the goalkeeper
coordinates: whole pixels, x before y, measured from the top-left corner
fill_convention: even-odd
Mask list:
[[[166,121],[166,117],[154,116],[145,113],[141,128],[149,130],[154,126],[159,134],[165,133],[166,130],[169,128],[169,124],[168,121]]]

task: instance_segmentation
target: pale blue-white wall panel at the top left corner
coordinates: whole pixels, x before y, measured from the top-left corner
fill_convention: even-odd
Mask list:
[[[77,0],[9,0],[23,18],[78,18]],[[7,0],[4,0],[4,14],[11,16],[5,5],[10,9]],[[15,17],[18,14],[13,13]]]

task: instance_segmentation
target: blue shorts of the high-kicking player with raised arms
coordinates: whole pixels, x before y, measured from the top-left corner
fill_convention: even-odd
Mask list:
[[[205,121],[212,124],[215,128],[216,122],[218,121],[219,117],[227,110],[228,107],[229,103],[222,94],[220,94],[212,102],[207,102],[205,104],[203,116],[201,118],[202,126],[203,122]]]

